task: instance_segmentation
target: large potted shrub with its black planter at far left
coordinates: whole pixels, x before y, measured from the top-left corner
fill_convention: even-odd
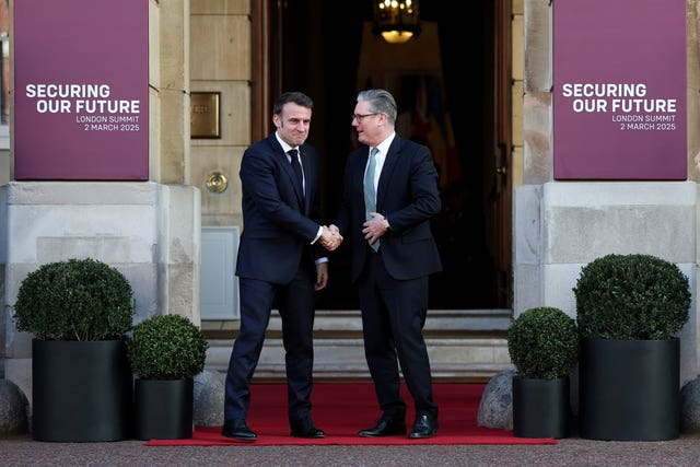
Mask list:
[[[135,313],[127,279],[102,261],[49,262],[21,282],[18,330],[32,340],[32,432],[38,441],[129,437],[126,336]]]

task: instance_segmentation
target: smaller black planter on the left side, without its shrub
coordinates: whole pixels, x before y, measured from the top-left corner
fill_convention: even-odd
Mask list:
[[[194,383],[188,380],[136,380],[137,440],[192,437]]]

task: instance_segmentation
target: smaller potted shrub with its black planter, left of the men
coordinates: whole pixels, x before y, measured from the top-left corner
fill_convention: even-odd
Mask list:
[[[135,326],[127,347],[136,437],[191,437],[192,378],[205,369],[209,347],[201,330],[184,316],[155,315]]]

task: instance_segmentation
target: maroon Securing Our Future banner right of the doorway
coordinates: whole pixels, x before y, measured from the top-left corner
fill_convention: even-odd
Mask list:
[[[686,1],[553,9],[555,178],[685,180]]]

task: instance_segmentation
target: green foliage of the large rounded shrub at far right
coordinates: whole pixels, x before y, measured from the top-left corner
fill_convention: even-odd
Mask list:
[[[688,278],[651,255],[597,258],[583,267],[573,292],[582,337],[665,340],[689,318]]]

